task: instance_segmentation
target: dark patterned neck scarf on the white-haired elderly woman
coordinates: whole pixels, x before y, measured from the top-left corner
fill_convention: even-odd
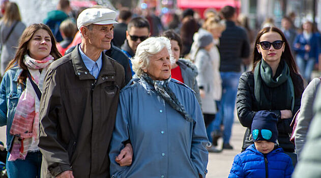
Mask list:
[[[156,93],[161,96],[173,109],[182,114],[186,121],[193,122],[193,119],[187,114],[184,106],[180,103],[178,98],[168,86],[170,77],[166,80],[153,80],[147,73],[143,73],[141,78],[150,85],[154,86]]]

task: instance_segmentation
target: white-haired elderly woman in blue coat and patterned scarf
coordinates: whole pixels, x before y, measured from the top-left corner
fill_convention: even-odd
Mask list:
[[[120,94],[110,145],[113,177],[205,177],[207,136],[193,91],[170,76],[169,39],[141,42],[132,58],[139,77]],[[115,157],[130,140],[132,165],[121,167]]]

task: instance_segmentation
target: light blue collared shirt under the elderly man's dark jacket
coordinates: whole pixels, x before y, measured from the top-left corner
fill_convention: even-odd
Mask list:
[[[80,56],[86,68],[89,70],[89,73],[92,74],[96,79],[99,75],[100,69],[103,65],[102,54],[98,57],[98,60],[95,62],[81,50],[81,45],[79,45]]]

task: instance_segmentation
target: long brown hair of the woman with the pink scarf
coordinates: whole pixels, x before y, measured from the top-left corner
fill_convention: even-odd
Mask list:
[[[27,67],[23,63],[24,55],[25,54],[30,55],[29,51],[28,51],[28,44],[29,44],[30,40],[32,39],[32,37],[34,36],[34,34],[39,29],[44,29],[45,31],[48,32],[48,34],[50,36],[50,39],[51,39],[50,54],[53,56],[54,60],[57,60],[58,58],[62,57],[62,55],[59,53],[59,51],[56,47],[56,40],[54,39],[53,34],[47,25],[45,25],[43,23],[35,23],[35,24],[32,24],[32,25],[26,27],[20,37],[16,55],[13,58],[13,60],[10,61],[10,63],[8,64],[8,67],[6,69],[6,71],[8,71],[9,69],[11,69],[17,65],[21,69],[23,69],[22,73],[20,74],[20,76],[18,78],[18,83],[20,83],[20,84],[25,82],[25,79],[27,76],[27,74],[26,74]]]

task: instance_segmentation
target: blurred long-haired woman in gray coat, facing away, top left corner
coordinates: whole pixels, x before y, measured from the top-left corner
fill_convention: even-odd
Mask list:
[[[5,15],[0,21],[1,76],[4,75],[9,62],[13,60],[24,29],[25,25],[21,22],[17,4],[7,3]]]

